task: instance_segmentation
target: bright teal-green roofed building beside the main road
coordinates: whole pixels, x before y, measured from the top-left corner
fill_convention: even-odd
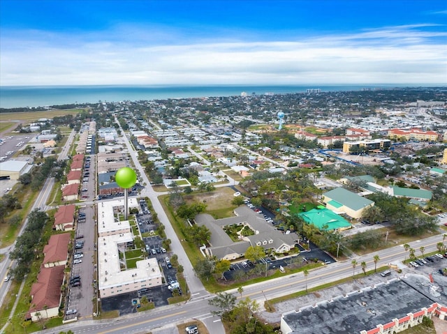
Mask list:
[[[351,224],[346,219],[328,208],[313,208],[298,215],[307,224],[312,224],[321,231],[342,231],[351,228]]]

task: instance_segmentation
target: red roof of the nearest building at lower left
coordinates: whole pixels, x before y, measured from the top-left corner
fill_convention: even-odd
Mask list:
[[[64,281],[64,266],[41,267],[37,282],[31,287],[31,308],[28,312],[56,308],[61,300],[61,286]]]

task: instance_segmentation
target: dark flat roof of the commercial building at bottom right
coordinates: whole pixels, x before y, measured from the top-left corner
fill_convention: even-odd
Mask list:
[[[418,280],[422,280],[423,287],[424,284],[430,285],[427,278],[411,278],[411,275],[395,278],[360,292],[353,291],[346,296],[301,308],[298,312],[284,313],[283,319],[292,333],[358,334],[435,303],[430,295],[420,291]]]

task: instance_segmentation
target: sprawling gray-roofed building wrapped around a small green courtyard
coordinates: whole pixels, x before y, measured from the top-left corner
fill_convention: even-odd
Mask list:
[[[259,245],[265,252],[288,252],[298,242],[295,233],[284,234],[269,225],[265,219],[247,206],[235,208],[235,217],[215,220],[207,213],[196,215],[196,224],[205,225],[211,231],[210,247],[204,249],[207,256],[216,256],[218,259],[237,259],[244,256],[249,246]],[[223,230],[227,225],[240,225],[249,227],[254,235],[241,237],[240,241],[233,241]]]

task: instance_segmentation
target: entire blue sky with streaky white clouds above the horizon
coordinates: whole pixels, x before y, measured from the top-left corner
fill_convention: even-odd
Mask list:
[[[1,0],[0,86],[446,84],[442,0]]]

